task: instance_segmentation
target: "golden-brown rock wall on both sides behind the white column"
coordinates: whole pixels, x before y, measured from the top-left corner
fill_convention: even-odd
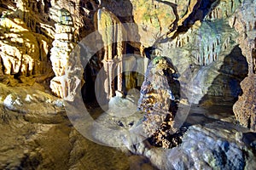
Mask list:
[[[93,12],[97,1],[18,0],[2,1],[0,55],[2,82],[15,85],[32,77],[42,82],[52,77],[50,48],[55,39],[58,11],[67,8],[73,16],[74,41],[94,31]],[[9,77],[15,77],[15,79]],[[8,76],[8,77],[7,77]],[[19,81],[16,78],[19,77]],[[25,77],[30,77],[29,79]],[[26,79],[26,80],[25,80]],[[27,84],[27,83],[26,83]]]

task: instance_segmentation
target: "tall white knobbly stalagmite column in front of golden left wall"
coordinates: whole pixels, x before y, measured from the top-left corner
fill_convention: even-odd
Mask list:
[[[83,73],[79,59],[79,47],[75,47],[73,19],[66,8],[59,11],[59,23],[55,24],[55,41],[50,60],[55,76],[50,81],[52,92],[58,97],[73,100]]]

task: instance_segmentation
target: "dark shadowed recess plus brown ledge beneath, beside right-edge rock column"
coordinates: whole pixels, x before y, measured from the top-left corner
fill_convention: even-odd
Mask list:
[[[220,64],[218,76],[213,79],[199,104],[191,105],[187,124],[205,124],[234,116],[233,105],[242,94],[240,83],[248,73],[247,59],[241,53],[239,45],[236,45]],[[201,113],[204,119],[200,120],[197,117]]]

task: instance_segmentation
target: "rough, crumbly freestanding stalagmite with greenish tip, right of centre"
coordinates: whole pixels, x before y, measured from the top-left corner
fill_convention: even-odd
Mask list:
[[[138,109],[145,113],[143,128],[148,137],[152,137],[154,144],[169,148],[170,133],[177,130],[172,128],[176,113],[175,96],[177,91],[172,74],[176,71],[166,57],[156,57],[149,65],[141,87],[141,97]]]

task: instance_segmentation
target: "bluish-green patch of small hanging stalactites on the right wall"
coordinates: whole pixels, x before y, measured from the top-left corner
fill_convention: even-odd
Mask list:
[[[223,26],[225,29],[221,29],[219,26]],[[236,37],[236,33],[221,21],[203,22],[200,28],[189,32],[189,35],[187,37],[194,43],[192,55],[196,65],[210,65],[217,61],[222,55],[221,53],[230,50],[228,48],[232,44],[232,39]]]

